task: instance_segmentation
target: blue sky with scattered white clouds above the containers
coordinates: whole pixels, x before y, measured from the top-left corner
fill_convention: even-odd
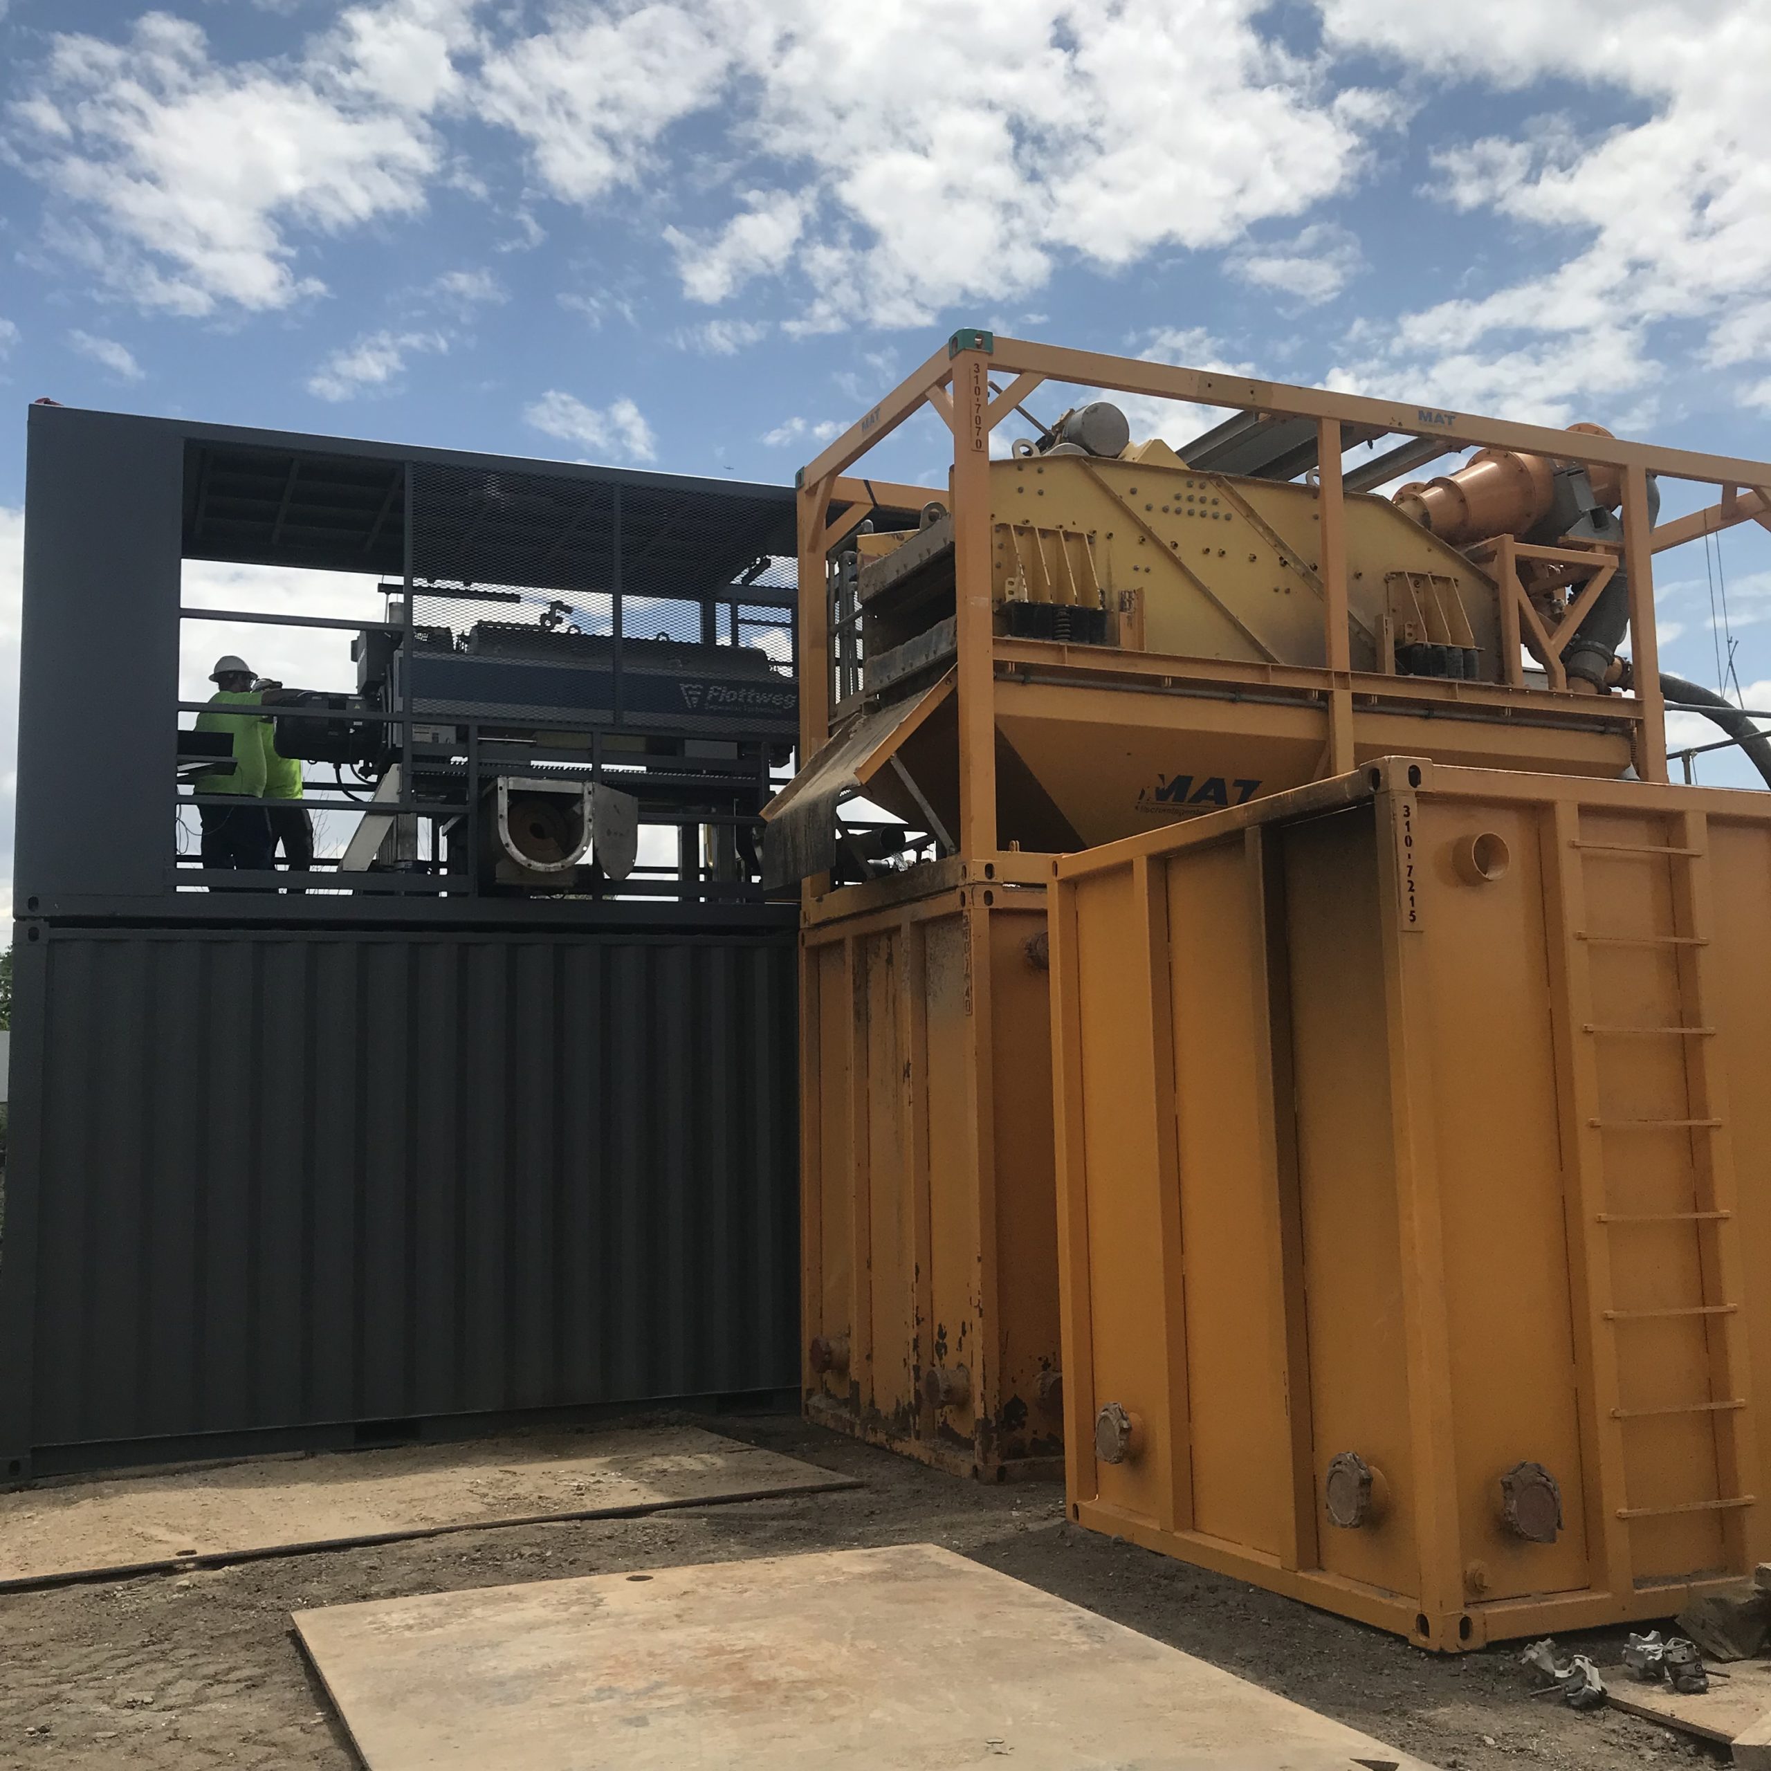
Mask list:
[[[0,83],[9,675],[37,395],[790,480],[981,324],[1771,455],[1766,5],[0,0]]]

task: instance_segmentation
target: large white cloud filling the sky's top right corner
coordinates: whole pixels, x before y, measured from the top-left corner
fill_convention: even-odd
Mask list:
[[[1321,7],[1332,48],[1505,89],[1603,85],[1645,112],[1590,138],[1558,117],[1440,149],[1435,193],[1514,223],[1511,257],[1546,267],[1406,315],[1348,381],[1566,421],[1663,379],[1667,322],[1698,328],[1700,363],[1771,363],[1771,9],[1493,0],[1481,30],[1456,30],[1431,7]]]

